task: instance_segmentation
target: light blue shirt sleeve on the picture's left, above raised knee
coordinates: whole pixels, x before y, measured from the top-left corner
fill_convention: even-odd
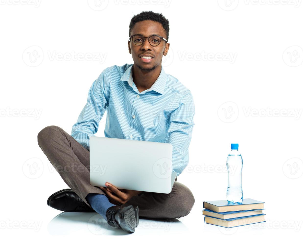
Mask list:
[[[89,137],[98,132],[99,123],[108,106],[107,69],[92,83],[87,102],[77,122],[72,126],[71,136],[89,151]]]

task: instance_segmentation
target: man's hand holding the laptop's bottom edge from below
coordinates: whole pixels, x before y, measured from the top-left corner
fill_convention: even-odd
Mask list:
[[[143,191],[136,191],[136,190],[128,190],[128,189],[118,189],[114,185],[106,182],[105,187],[100,187],[100,189],[105,192],[105,194],[109,198],[109,202],[115,205],[123,205],[128,202],[133,196],[138,195]]]

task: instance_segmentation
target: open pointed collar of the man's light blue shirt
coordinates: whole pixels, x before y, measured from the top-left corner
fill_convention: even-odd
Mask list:
[[[124,72],[124,74],[122,75],[120,81],[127,81],[128,84],[133,87],[133,78],[132,78],[132,67],[134,64],[132,64],[129,68],[127,68],[127,70]],[[161,72],[159,77],[157,78],[157,80],[154,82],[154,84],[151,86],[151,88],[147,89],[146,91],[155,91],[158,92],[160,94],[164,93],[164,88],[166,86],[166,79],[167,79],[167,75],[164,71],[163,66],[161,65]]]

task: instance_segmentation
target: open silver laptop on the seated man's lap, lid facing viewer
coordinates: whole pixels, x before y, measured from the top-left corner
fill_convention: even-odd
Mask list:
[[[144,192],[170,193],[177,173],[172,172],[170,143],[121,138],[89,138],[90,184]]]

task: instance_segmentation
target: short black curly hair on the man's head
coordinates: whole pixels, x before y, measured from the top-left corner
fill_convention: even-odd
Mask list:
[[[141,22],[144,20],[152,20],[155,22],[159,22],[161,23],[162,27],[164,28],[164,31],[166,33],[166,40],[168,41],[168,32],[169,32],[169,22],[168,19],[166,19],[162,13],[156,13],[156,12],[152,12],[152,11],[142,11],[137,15],[134,15],[131,19],[131,22],[129,24],[129,35],[131,35],[131,31],[133,29],[133,27],[135,26],[135,24],[137,22]]]

